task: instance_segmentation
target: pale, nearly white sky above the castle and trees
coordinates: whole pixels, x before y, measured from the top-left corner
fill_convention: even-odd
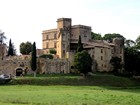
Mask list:
[[[119,33],[135,41],[140,35],[140,0],[0,0],[0,30],[18,54],[22,42],[36,42],[41,49],[42,31],[56,28],[58,18],[91,26],[102,36]]]

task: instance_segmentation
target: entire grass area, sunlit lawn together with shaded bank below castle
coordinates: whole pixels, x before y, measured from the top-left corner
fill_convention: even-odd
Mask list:
[[[0,105],[139,105],[139,86],[112,75],[23,77],[0,86]]]

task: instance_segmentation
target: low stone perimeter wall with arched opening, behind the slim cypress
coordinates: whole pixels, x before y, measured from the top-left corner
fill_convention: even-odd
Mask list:
[[[23,57],[6,57],[4,60],[0,60],[0,74],[16,75],[16,70],[21,68],[23,75],[25,73],[32,74],[33,71],[30,67],[30,59],[23,59]],[[37,60],[37,73],[69,73],[70,63],[66,59],[44,59],[39,58]]]

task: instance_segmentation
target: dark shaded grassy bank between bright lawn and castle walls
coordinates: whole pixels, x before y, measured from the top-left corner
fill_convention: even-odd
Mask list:
[[[13,79],[9,84],[27,85],[71,85],[71,86],[140,86],[140,83],[129,78],[117,77],[110,74],[97,74],[83,78],[73,75],[39,75],[38,77],[22,77]]]

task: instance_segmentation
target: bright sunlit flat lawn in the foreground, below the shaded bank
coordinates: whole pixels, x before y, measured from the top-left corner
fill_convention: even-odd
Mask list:
[[[0,105],[139,105],[140,89],[97,86],[0,86]]]

